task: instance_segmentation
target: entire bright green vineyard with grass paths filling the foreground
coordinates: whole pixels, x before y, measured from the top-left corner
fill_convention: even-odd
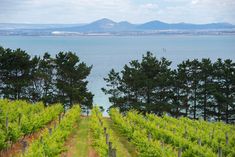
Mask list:
[[[235,127],[98,107],[0,100],[0,156],[235,157]],[[32,137],[32,138],[31,138]],[[28,140],[30,139],[30,140]]]

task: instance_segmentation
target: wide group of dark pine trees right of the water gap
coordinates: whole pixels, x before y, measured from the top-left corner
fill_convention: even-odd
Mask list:
[[[203,58],[186,60],[177,69],[171,62],[147,52],[141,61],[132,60],[121,72],[114,69],[104,78],[112,107],[121,112],[232,122],[235,116],[235,63]]]

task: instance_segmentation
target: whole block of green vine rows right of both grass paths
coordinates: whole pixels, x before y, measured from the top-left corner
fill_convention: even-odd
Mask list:
[[[151,142],[160,142],[162,145],[153,148],[154,150],[163,150],[167,145],[170,150],[180,150],[178,156],[182,154],[183,157],[216,157],[217,154],[226,157],[235,156],[235,128],[231,125],[186,118],[174,119],[168,116],[160,118],[153,114],[143,116],[135,111],[127,112],[126,116],[123,116],[116,109],[111,109],[110,116],[120,130],[139,148],[142,156],[167,156],[166,152],[169,151],[155,155],[148,151]],[[145,145],[139,145],[141,142],[137,140],[141,138],[145,139]],[[147,141],[147,138],[151,140]],[[160,150],[157,152],[161,152]],[[170,152],[169,156],[176,154]]]

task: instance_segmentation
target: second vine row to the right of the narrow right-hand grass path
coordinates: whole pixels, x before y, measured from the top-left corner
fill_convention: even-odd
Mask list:
[[[172,131],[159,128],[136,112],[128,112],[125,118],[130,121],[132,127],[140,129],[144,128],[146,132],[151,134],[154,140],[172,145],[175,148],[182,148],[183,157],[216,157],[216,154],[209,147],[199,146],[195,142],[188,141],[186,138],[174,135]]]

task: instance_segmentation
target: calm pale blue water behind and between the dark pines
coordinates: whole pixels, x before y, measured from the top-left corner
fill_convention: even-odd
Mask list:
[[[59,51],[73,51],[93,65],[89,76],[89,90],[95,95],[94,104],[108,108],[108,97],[100,90],[109,70],[121,70],[129,61],[141,59],[146,51],[171,60],[172,68],[192,58],[235,60],[235,36],[79,36],[79,37],[22,37],[0,36],[5,48],[22,48],[31,55]]]

